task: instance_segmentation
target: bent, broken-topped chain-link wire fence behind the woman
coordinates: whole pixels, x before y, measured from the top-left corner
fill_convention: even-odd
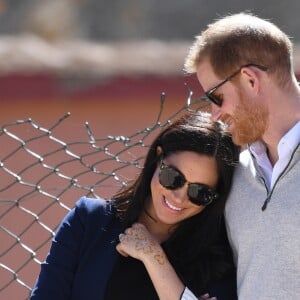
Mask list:
[[[207,106],[186,103],[165,121],[165,95],[153,125],[129,136],[60,137],[67,113],[49,128],[32,119],[0,127],[0,298],[28,299],[55,230],[82,196],[109,198],[133,180],[147,147],[162,128],[187,110]],[[14,296],[12,296],[14,295]]]

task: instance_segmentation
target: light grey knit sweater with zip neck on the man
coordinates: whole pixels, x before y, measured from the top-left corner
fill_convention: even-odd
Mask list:
[[[239,300],[300,299],[300,146],[271,191],[249,150],[240,161],[225,209]]]

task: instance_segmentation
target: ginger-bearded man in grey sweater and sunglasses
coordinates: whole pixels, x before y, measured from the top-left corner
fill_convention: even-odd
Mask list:
[[[185,61],[242,152],[225,218],[241,300],[300,299],[300,89],[292,44],[235,14],[196,37]]]

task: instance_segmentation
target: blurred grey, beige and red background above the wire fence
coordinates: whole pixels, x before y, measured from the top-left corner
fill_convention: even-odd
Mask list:
[[[299,6],[297,0],[0,0],[0,123],[32,117],[47,124],[70,111],[75,123],[100,122],[104,132],[111,123],[129,125],[128,114],[130,123],[145,124],[162,91],[174,108],[185,101],[185,82],[200,92],[182,65],[207,23],[250,11],[297,44]],[[140,120],[147,105],[154,112],[147,108]]]

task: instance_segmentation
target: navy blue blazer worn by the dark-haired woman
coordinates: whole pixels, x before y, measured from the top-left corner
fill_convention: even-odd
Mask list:
[[[81,198],[60,224],[31,300],[101,300],[118,252],[122,225],[105,200]],[[212,285],[218,300],[234,300],[235,278]]]

